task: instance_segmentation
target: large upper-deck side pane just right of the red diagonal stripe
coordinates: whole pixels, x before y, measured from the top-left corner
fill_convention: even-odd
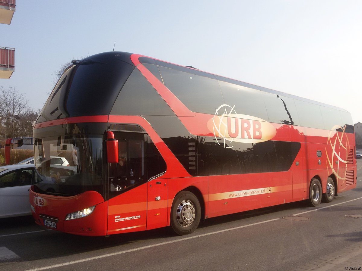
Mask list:
[[[218,81],[159,66],[165,86],[193,112],[215,114],[224,104]]]

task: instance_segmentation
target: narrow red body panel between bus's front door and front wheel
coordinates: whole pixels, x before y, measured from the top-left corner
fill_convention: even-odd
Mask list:
[[[168,179],[147,182],[147,230],[167,226],[167,186]]]

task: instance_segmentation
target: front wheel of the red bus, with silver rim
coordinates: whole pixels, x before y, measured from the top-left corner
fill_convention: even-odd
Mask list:
[[[197,197],[182,191],[174,199],[171,207],[170,224],[178,235],[189,234],[197,229],[201,220],[201,207]]]

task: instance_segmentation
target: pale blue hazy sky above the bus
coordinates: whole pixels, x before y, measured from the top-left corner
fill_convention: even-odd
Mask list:
[[[0,46],[0,87],[36,111],[57,69],[96,53],[138,53],[346,109],[362,122],[360,0],[17,0]]]

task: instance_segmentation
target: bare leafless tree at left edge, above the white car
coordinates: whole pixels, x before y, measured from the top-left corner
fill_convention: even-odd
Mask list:
[[[1,86],[0,99],[1,132],[5,138],[32,136],[36,116],[24,94],[15,87],[5,90]]]

